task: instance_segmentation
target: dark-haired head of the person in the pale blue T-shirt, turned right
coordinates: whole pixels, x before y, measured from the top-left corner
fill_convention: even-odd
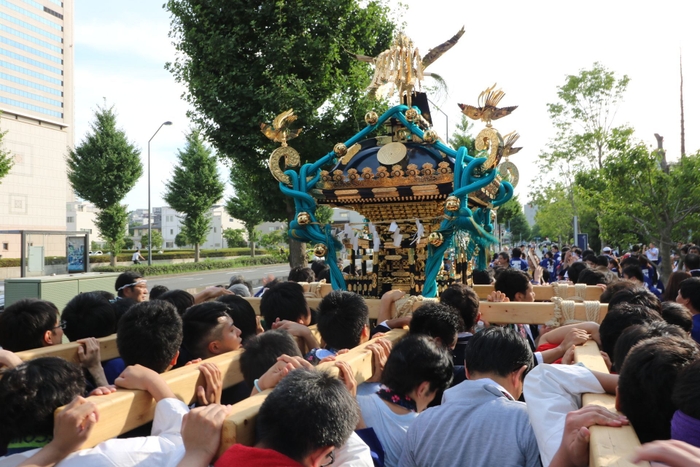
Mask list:
[[[428,336],[408,335],[391,349],[382,372],[382,384],[410,396],[427,407],[439,390],[450,386],[453,377],[452,356]]]

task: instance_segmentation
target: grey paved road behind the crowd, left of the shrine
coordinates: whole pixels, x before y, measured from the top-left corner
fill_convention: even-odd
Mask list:
[[[210,285],[228,285],[229,279],[234,274],[242,274],[250,281],[254,288],[262,285],[262,278],[267,274],[275,277],[287,277],[289,266],[286,264],[272,264],[266,266],[249,266],[241,268],[223,269],[220,271],[187,273],[177,276],[153,276],[148,278],[148,289],[154,285],[165,285],[169,289],[193,289]]]

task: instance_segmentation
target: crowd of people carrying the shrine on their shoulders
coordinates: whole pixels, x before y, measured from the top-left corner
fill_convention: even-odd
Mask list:
[[[595,255],[552,246],[539,263],[514,248],[474,272],[475,283],[493,283],[492,301],[534,301],[533,285],[557,279],[604,289],[600,324],[553,328],[485,322],[464,284],[400,317],[394,310],[403,292],[387,292],[374,325],[365,299],[352,292],[332,291],[311,309],[299,282],[319,280],[322,264],[268,280],[258,294],[260,316],[240,276],[192,295],[162,286],[149,293],[146,279],[128,272],[114,293],[77,295],[60,312],[47,301],[20,300],[0,313],[0,467],[580,466],[588,465],[592,425],[627,424],[644,443],[634,462],[700,466],[700,257],[693,248],[666,284],[652,248],[618,258],[610,248]],[[382,337],[404,327],[395,345]],[[97,338],[114,333],[119,358],[102,361]],[[64,334],[81,344],[79,364],[16,355],[60,344]],[[575,346],[589,339],[610,374],[572,364]],[[375,371],[357,384],[336,358],[370,340]],[[207,359],[240,349],[244,381],[224,388]],[[337,367],[339,378],[319,364]],[[186,365],[202,374],[189,407],[161,376]],[[150,393],[153,422],[80,449],[99,420],[95,399],[116,388]],[[267,390],[255,444],[234,444],[215,460],[232,405]],[[581,408],[584,393],[616,395],[618,413]]]

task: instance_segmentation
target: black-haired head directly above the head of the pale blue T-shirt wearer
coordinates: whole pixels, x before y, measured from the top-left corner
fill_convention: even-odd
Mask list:
[[[410,334],[424,334],[446,348],[457,344],[459,312],[444,303],[428,302],[413,312]]]

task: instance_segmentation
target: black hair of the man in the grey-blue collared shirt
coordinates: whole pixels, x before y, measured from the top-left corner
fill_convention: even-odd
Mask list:
[[[464,349],[464,366],[470,373],[508,376],[522,366],[533,365],[527,341],[510,328],[493,326],[474,334]],[[523,373],[523,376],[525,376]]]

